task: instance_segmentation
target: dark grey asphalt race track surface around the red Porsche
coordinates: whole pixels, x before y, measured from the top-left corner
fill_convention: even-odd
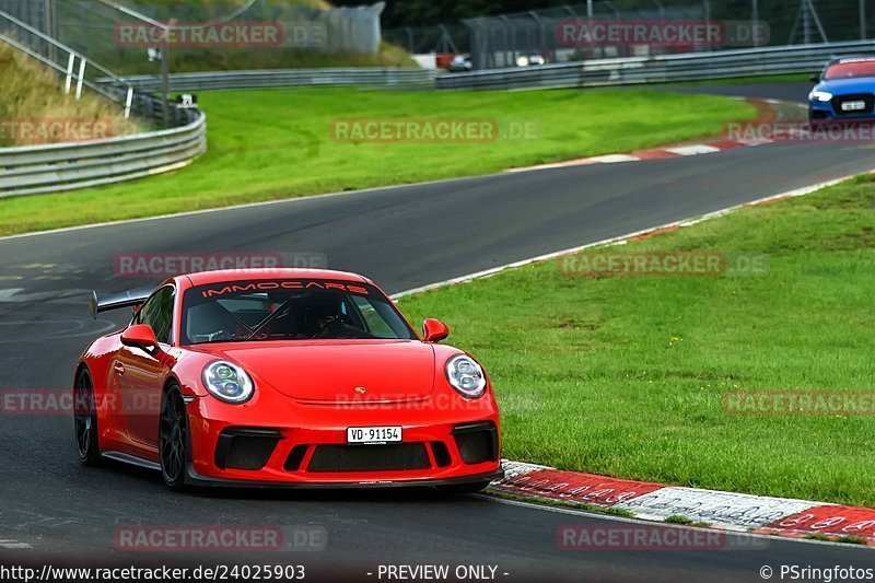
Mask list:
[[[156,283],[116,278],[118,253],[320,253],[331,268],[363,272],[398,292],[865,172],[875,168],[874,153],[861,145],[773,144],[2,240],[0,389],[71,385],[72,365],[90,339],[126,319],[90,319],[90,291]],[[303,562],[314,580],[332,574],[377,581],[377,565],[394,563],[490,564],[500,581],[761,581],[765,564],[875,567],[871,549],[778,539],[759,550],[562,550],[560,526],[610,518],[452,500],[430,490],[172,494],[158,474],[81,467],[72,421],[61,416],[0,417],[0,465],[2,564],[175,563],[183,557],[115,552],[114,530],[221,522],[325,528],[325,552],[202,559]],[[33,548],[4,550],[2,541],[10,540]]]

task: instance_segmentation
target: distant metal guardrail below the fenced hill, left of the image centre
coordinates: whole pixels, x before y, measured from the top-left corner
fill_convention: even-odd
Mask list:
[[[264,71],[213,71],[171,75],[171,91],[210,91],[234,89],[278,89],[301,86],[376,85],[397,86],[432,84],[435,72],[419,68],[281,69]],[[109,83],[109,79],[98,79]],[[159,91],[161,79],[154,75],[126,77],[122,82],[138,91]]]

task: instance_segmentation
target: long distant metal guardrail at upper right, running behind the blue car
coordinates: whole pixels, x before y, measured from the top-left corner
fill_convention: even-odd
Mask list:
[[[537,89],[700,81],[820,71],[833,55],[875,51],[875,42],[792,45],[657,57],[597,59],[436,78],[438,89]]]

